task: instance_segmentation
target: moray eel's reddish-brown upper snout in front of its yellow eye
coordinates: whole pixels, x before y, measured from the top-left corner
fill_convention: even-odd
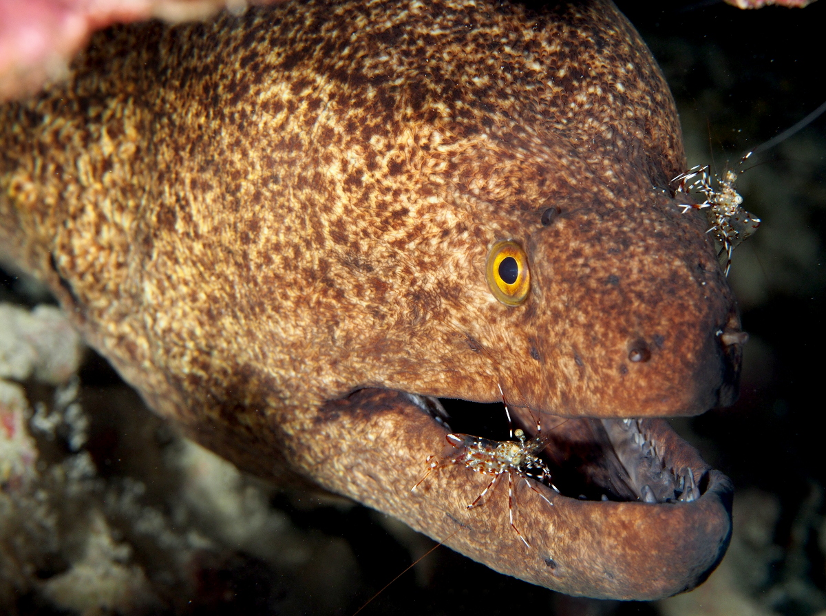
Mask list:
[[[539,329],[545,372],[523,371],[516,385],[534,408],[666,417],[737,399],[748,336],[705,220],[650,199],[645,216],[630,206],[603,212],[616,220],[610,234],[593,220],[598,202],[561,216],[531,246],[542,305],[523,329]],[[559,258],[560,246],[575,258]]]

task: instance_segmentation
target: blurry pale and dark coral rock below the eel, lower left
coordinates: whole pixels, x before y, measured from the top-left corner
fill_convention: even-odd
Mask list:
[[[3,613],[325,614],[348,600],[343,540],[298,531],[272,486],[120,382],[84,385],[84,354],[59,310],[0,304]]]

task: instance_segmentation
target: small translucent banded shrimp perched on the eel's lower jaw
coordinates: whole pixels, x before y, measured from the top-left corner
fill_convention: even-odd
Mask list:
[[[482,503],[485,495],[487,495],[490,490],[495,489],[496,481],[498,481],[501,476],[507,474],[510,528],[514,529],[526,547],[531,547],[528,540],[514,524],[514,476],[517,477],[517,485],[520,479],[525,481],[526,486],[539,494],[548,505],[553,506],[553,503],[548,500],[548,497],[528,481],[529,479],[534,479],[534,481],[539,481],[539,483],[547,482],[547,485],[551,486],[553,490],[559,491],[558,488],[550,482],[551,471],[539,457],[539,453],[548,443],[549,433],[542,434],[542,422],[539,418],[536,421],[536,436],[533,438],[527,438],[525,431],[522,429],[513,429],[510,410],[508,409],[501,385],[499,386],[499,391],[502,395],[502,402],[505,405],[505,413],[508,418],[508,425],[510,426],[510,438],[515,437],[517,440],[495,441],[489,438],[472,436],[471,434],[448,434],[445,437],[448,441],[448,447],[438,456],[439,459],[436,459],[437,456],[435,455],[427,457],[426,462],[429,462],[428,470],[425,476],[411,488],[411,492],[414,492],[416,488],[430,476],[431,472],[451,464],[463,464],[472,471],[493,476],[490,483],[488,483],[485,489],[476,497],[476,500],[473,500],[472,503],[467,505],[468,509],[473,509]]]

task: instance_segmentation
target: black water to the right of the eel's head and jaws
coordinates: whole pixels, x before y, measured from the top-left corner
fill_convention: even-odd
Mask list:
[[[623,8],[661,63],[690,164],[718,169],[826,101],[819,49],[826,6],[671,14]],[[710,588],[668,614],[815,614],[826,608],[821,384],[824,361],[826,117],[750,159],[738,182],[762,218],[734,254],[745,349],[740,400],[676,425],[733,478],[735,537]],[[755,166],[757,165],[757,166]],[[729,603],[724,603],[729,601]],[[716,605],[714,603],[716,602]],[[736,606],[736,607],[735,607]],[[764,610],[758,612],[757,610]]]

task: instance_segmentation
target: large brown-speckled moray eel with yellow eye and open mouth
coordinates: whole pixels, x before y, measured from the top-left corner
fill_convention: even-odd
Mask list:
[[[669,186],[667,84],[607,0],[120,26],[0,114],[4,258],[198,442],[573,595],[719,562],[731,484],[653,418],[732,402],[743,334]],[[505,488],[466,507],[488,476],[411,493],[435,398],[500,386],[526,429],[573,418],[546,449],[562,493],[516,483],[530,547]]]

